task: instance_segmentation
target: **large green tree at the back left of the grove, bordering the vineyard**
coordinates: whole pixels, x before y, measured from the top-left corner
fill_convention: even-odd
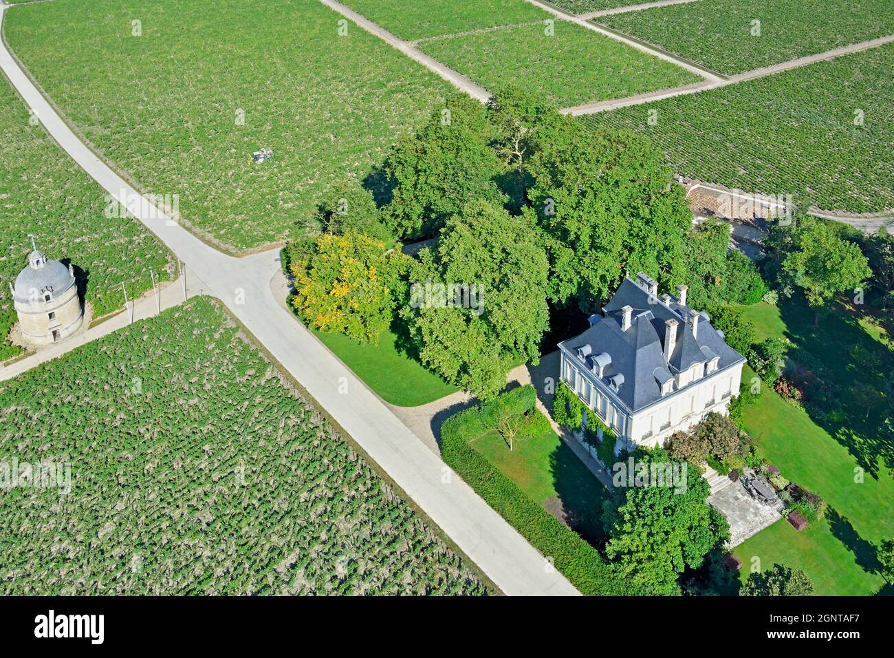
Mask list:
[[[491,146],[496,136],[480,103],[448,98],[387,159],[392,198],[383,209],[385,224],[401,239],[424,239],[467,201],[506,201],[497,184],[505,167]]]

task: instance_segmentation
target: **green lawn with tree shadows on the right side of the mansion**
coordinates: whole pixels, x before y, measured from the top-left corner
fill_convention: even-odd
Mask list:
[[[894,445],[881,430],[883,408],[867,414],[857,391],[860,385],[881,390],[882,378],[894,368],[894,352],[879,341],[879,332],[864,329],[878,325],[840,305],[819,327],[814,313],[797,301],[757,304],[746,308],[746,317],[764,337],[789,338],[796,362],[813,355],[838,373],[844,420],[792,406],[763,387],[746,409],[746,430],[789,480],[819,492],[829,511],[826,520],[802,533],[777,523],[735,552],[746,568],[753,556],[763,568],[773,562],[804,568],[817,594],[873,594],[883,585],[876,546],[894,537]],[[743,380],[753,376],[746,369]]]

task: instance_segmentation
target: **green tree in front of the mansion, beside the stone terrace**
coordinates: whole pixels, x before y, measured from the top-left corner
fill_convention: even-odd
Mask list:
[[[633,457],[648,465],[683,465],[664,449],[637,449]],[[604,503],[605,553],[657,594],[676,593],[679,575],[700,567],[708,551],[729,538],[726,518],[706,502],[711,490],[696,466],[687,466],[682,492],[655,485],[615,491],[617,500]]]

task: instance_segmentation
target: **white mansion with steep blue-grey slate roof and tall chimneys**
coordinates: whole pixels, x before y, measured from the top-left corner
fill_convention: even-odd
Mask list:
[[[738,396],[745,357],[686,295],[659,296],[642,272],[625,277],[589,329],[559,345],[561,380],[617,434],[616,451],[663,446]]]

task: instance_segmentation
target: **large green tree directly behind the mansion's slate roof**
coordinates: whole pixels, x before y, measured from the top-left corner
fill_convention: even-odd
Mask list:
[[[591,132],[564,117],[536,136],[528,192],[547,239],[550,297],[595,309],[625,269],[682,282],[692,222],[660,150],[630,132]]]

